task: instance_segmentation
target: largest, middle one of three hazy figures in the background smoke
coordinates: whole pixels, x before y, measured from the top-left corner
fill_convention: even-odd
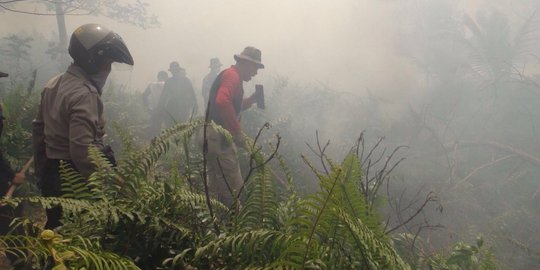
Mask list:
[[[163,92],[159,98],[159,126],[165,122],[166,127],[189,120],[197,114],[197,97],[191,81],[186,77],[186,70],[178,62],[171,62],[169,71],[172,77],[165,81]]]

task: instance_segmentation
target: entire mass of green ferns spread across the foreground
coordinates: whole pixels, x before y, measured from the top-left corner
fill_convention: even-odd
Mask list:
[[[91,147],[89,157],[96,172],[89,179],[68,163],[61,164],[62,198],[0,201],[12,206],[23,202],[43,208],[61,206],[64,225],[56,232],[62,235],[61,241],[42,247],[45,244],[29,233],[20,236],[34,243],[25,248],[23,240],[9,242],[15,236],[0,240],[8,241],[13,253],[29,262],[52,256],[54,250],[61,258],[54,260],[58,267],[409,269],[383,233],[376,209],[368,206],[360,192],[362,166],[354,152],[341,163],[326,159],[328,171],[315,169],[306,159],[319,190],[300,196],[285,160],[277,155],[287,179],[282,189],[278,174],[267,163],[274,155],[248,143],[250,173],[241,195],[242,207],[228,209],[210,199],[214,209],[210,214],[207,194],[193,184],[201,183],[202,177],[200,156],[191,138],[203,124],[194,120],[174,125],[148,145],[134,143],[135,129],[119,127],[118,141],[130,147],[117,167]],[[226,130],[211,125],[231,139]],[[167,156],[173,151],[183,152]],[[175,165],[169,168],[169,164]],[[22,255],[28,249],[37,255]]]

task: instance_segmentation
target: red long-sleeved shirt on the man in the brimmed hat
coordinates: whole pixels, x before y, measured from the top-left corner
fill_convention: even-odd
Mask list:
[[[240,133],[240,122],[233,105],[233,100],[238,99],[242,100],[242,110],[251,107],[255,103],[253,96],[244,99],[244,88],[242,87],[240,74],[238,74],[238,69],[235,66],[231,66],[223,71],[221,76],[221,83],[216,94],[216,107],[223,121],[223,127],[233,136]]]

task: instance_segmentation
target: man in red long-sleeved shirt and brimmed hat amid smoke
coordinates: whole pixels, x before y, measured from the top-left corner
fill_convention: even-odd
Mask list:
[[[248,82],[264,68],[261,51],[246,47],[235,54],[236,64],[222,71],[210,89],[208,119],[228,130],[233,143],[209,128],[208,140],[208,186],[210,193],[225,205],[232,206],[234,198],[242,187],[243,179],[237,157],[237,147],[245,147],[244,133],[238,116],[241,111],[256,102],[256,95],[244,99],[243,82]]]

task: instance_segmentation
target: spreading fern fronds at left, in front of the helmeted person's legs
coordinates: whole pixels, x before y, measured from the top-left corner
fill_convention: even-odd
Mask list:
[[[190,237],[204,233],[211,220],[203,195],[165,179],[148,177],[150,168],[171,142],[191,134],[198,124],[177,125],[164,131],[148,148],[134,152],[131,159],[116,168],[91,147],[89,156],[96,172],[88,181],[67,163],[61,164],[63,198],[19,197],[5,203],[61,206],[64,226],[60,233],[69,238],[92,239],[92,243],[130,257],[143,268],[155,268],[171,250],[189,246]],[[224,210],[220,203],[211,202],[215,209]]]

